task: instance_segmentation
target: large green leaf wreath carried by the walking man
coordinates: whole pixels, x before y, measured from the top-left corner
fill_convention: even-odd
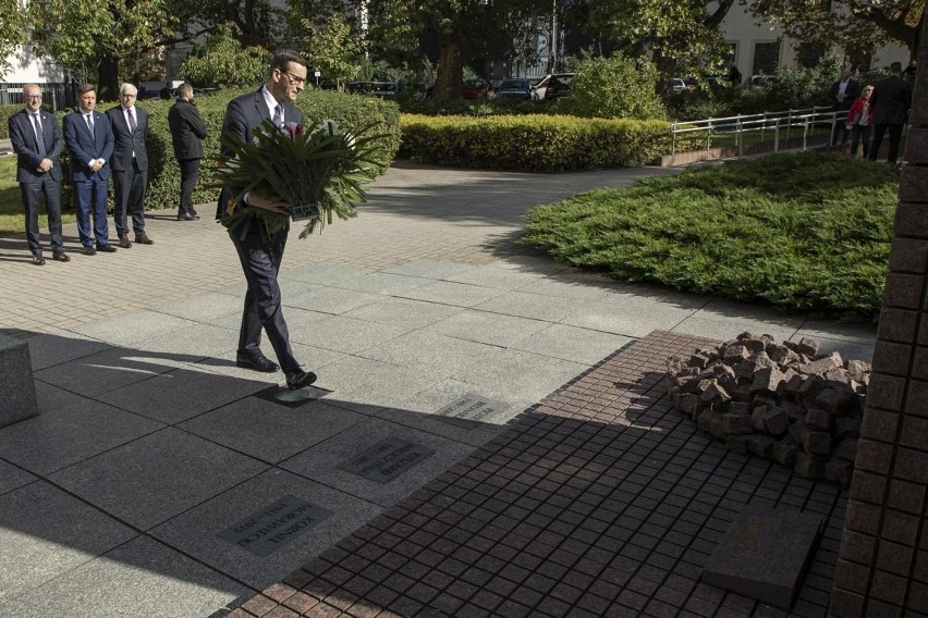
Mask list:
[[[301,238],[312,234],[316,226],[332,222],[332,217],[350,219],[357,215],[355,206],[366,201],[362,185],[377,177],[382,137],[374,134],[376,124],[358,131],[339,131],[338,123],[326,120],[313,131],[296,123],[283,127],[266,120],[252,135],[251,143],[237,135],[222,140],[232,153],[218,170],[223,185],[241,187],[227,205],[222,224],[233,227],[252,219],[243,226],[259,221],[268,232],[283,230],[291,219],[308,219],[300,233]],[[288,207],[273,210],[245,203],[245,194],[286,202]]]

